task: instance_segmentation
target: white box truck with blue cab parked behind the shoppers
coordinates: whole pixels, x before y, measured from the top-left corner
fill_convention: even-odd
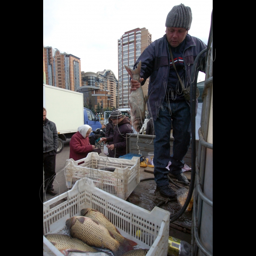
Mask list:
[[[43,84],[43,87],[43,106],[46,109],[46,118],[56,124],[59,136],[57,153],[63,150],[63,141],[71,139],[79,126],[88,124],[93,131],[97,128],[101,129],[99,117],[95,117],[90,109],[83,107],[82,93],[47,84]]]

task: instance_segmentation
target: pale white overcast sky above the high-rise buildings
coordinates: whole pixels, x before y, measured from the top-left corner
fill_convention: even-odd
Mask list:
[[[79,57],[81,71],[110,69],[118,79],[118,39],[138,27],[152,42],[162,37],[167,14],[180,3],[192,10],[188,33],[207,44],[212,0],[43,0],[43,44]]]

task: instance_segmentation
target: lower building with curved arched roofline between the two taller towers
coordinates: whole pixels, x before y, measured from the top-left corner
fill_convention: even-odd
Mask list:
[[[82,71],[81,79],[78,91],[84,93],[84,103],[90,102],[94,108],[98,102],[103,108],[118,108],[118,80],[110,69],[97,73]]]

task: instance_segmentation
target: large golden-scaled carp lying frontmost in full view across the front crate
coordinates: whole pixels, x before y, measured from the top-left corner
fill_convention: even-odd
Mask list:
[[[79,238],[90,246],[107,248],[114,256],[121,256],[133,250],[131,246],[121,244],[104,226],[94,219],[84,216],[74,216],[67,219],[66,226],[72,237]]]

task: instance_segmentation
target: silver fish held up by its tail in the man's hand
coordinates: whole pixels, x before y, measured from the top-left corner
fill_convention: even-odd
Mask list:
[[[129,68],[127,65],[124,65],[124,67],[131,78],[139,82],[141,61],[137,64],[137,67],[134,70]],[[132,91],[130,95],[131,121],[132,126],[137,132],[142,128],[145,120],[146,103],[147,95],[144,97],[142,86],[140,84],[140,87]]]

